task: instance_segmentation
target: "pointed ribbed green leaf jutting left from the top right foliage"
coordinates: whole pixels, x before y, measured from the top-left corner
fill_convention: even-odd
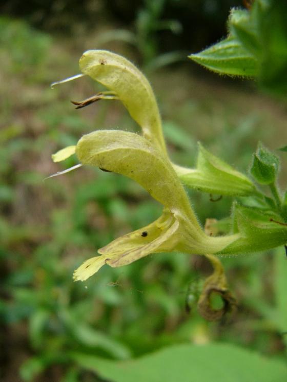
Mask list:
[[[220,74],[249,77],[258,74],[256,57],[232,35],[189,58]]]

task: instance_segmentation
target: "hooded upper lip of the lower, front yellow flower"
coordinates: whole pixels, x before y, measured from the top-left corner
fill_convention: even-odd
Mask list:
[[[135,180],[172,212],[178,210],[189,214],[200,230],[170,161],[144,137],[118,130],[96,131],[78,141],[76,154],[83,164],[104,168]]]

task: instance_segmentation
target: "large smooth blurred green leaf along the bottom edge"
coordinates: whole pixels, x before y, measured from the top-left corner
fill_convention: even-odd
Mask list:
[[[111,382],[274,382],[287,378],[284,362],[228,344],[177,345],[126,362],[80,353],[71,357]]]

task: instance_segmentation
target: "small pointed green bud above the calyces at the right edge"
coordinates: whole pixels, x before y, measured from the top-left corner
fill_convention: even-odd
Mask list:
[[[278,170],[279,159],[259,143],[250,169],[253,178],[260,184],[271,184],[275,182]]]

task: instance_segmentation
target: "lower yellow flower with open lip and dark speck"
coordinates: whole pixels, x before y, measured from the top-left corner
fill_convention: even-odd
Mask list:
[[[70,153],[70,148],[67,149]],[[101,256],[87,260],[74,273],[74,280],[86,280],[101,266],[130,264],[150,253],[184,251],[218,252],[238,238],[210,238],[201,229],[168,157],[146,138],[108,130],[84,135],[75,147],[82,164],[125,175],[163,206],[163,214],[150,225],[122,236],[98,250]],[[63,151],[60,157],[65,157]],[[58,154],[55,154],[58,159]]]

